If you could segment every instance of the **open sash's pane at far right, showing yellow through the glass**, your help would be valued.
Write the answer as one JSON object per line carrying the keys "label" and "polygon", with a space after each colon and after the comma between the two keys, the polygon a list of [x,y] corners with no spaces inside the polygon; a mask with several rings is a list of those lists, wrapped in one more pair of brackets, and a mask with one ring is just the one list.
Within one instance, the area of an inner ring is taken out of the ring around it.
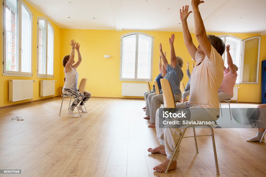
{"label": "open sash's pane at far right, showing yellow through the glass", "polygon": [[257,82],[259,38],[244,41],[243,82]]}

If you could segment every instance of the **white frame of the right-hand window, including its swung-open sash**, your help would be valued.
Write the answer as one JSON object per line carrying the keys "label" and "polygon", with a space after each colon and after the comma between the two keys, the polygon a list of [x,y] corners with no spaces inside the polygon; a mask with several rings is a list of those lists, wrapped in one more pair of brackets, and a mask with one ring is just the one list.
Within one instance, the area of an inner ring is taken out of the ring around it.
{"label": "white frame of the right-hand window, including its swung-open sash", "polygon": [[[242,83],[248,83],[248,84],[257,84],[258,83],[258,80],[259,80],[259,64],[260,64],[260,41],[261,41],[261,36],[254,36],[254,37],[250,37],[250,38],[247,38],[247,39],[240,39],[238,37],[235,37],[235,36],[231,36],[231,35],[219,35],[218,36],[219,38],[221,37],[224,37],[225,40],[223,41],[225,44],[226,44],[226,37],[233,37],[235,39],[238,39],[241,41],[241,46],[240,46],[240,65],[239,65],[239,83],[235,83],[235,85],[240,85]],[[254,38],[259,38],[259,51],[258,51],[258,61],[257,61],[257,80],[256,82],[243,82],[243,65],[244,65],[244,52],[245,52],[245,41],[247,40],[250,40],[250,39],[254,39]],[[226,51],[223,53],[223,61],[225,62],[225,54],[226,54]]]}

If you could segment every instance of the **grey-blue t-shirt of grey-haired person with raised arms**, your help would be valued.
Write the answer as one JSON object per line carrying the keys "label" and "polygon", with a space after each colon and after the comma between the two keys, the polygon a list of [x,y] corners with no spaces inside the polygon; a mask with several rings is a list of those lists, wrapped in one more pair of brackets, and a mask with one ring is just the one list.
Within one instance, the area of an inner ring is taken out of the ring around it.
{"label": "grey-blue t-shirt of grey-haired person with raised arms", "polygon": [[167,65],[167,74],[164,78],[170,82],[173,94],[181,94],[180,82],[182,81],[183,77],[184,73],[178,63],[176,64],[175,68],[169,64]]}

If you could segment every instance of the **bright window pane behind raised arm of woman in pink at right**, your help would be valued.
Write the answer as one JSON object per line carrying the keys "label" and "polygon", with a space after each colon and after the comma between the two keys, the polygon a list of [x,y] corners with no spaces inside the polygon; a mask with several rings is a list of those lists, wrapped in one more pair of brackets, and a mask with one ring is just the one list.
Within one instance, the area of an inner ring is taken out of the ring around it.
{"label": "bright window pane behind raised arm of woman in pink at right", "polygon": [[[241,43],[242,41],[234,37],[226,37],[226,45],[230,45],[230,55],[232,57],[233,63],[239,68],[236,78],[236,83],[240,83],[240,56],[241,56]],[[227,68],[227,53],[225,51],[225,67]]]}

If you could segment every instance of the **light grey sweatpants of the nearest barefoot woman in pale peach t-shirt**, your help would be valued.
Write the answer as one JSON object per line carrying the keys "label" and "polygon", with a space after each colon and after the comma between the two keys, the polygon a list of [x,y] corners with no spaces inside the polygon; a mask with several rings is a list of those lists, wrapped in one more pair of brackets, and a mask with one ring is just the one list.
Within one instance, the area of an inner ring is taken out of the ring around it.
{"label": "light grey sweatpants of the nearest barefoot woman in pale peach t-shirt", "polygon": [[[179,103],[176,104],[176,108],[184,108],[181,111],[177,111],[175,113],[181,113],[186,112],[185,109],[189,109],[189,112],[191,113],[191,118],[190,121],[194,120],[199,120],[199,121],[215,121],[217,120],[217,118],[213,117],[212,115],[219,115],[219,108],[215,109],[215,108],[205,108],[205,109],[196,109],[196,108],[203,108],[201,105],[198,104],[193,104],[190,105],[187,102],[185,103]],[[215,109],[215,110],[214,110]],[[212,113],[210,113],[209,111],[211,111]],[[182,118],[177,118],[176,120],[181,121]],[[177,142],[179,141],[184,128],[169,128],[168,126],[173,126],[173,125],[161,125],[164,128],[159,128],[160,123],[163,123],[163,121],[165,120],[165,118],[160,117],[159,116],[159,109],[157,109],[156,111],[156,122],[155,122],[155,126],[156,126],[156,133],[157,133],[157,138],[160,141],[161,145],[165,146],[165,152],[167,155],[168,159],[171,159],[172,154],[174,152],[174,149],[176,148]],[[177,149],[177,153],[174,156],[174,161],[177,159],[178,155],[179,155],[179,150],[180,148]]]}

